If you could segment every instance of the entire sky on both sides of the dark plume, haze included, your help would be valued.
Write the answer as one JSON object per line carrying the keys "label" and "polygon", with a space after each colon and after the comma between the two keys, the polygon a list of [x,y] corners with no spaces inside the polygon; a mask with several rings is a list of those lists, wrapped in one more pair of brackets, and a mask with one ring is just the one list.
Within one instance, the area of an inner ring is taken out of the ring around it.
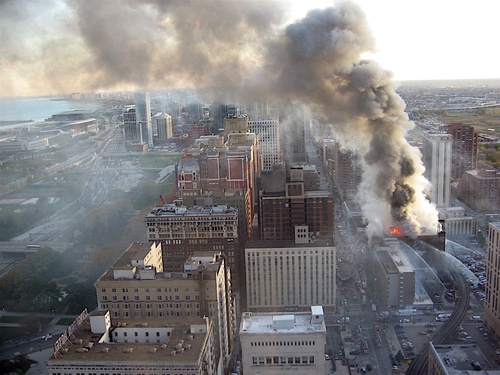
{"label": "entire sky on both sides of the dark plume, haze included", "polygon": [[[500,78],[500,2],[354,2],[376,45],[363,56],[395,79]],[[209,85],[228,72],[241,81],[279,25],[334,4],[0,0],[0,96]]]}

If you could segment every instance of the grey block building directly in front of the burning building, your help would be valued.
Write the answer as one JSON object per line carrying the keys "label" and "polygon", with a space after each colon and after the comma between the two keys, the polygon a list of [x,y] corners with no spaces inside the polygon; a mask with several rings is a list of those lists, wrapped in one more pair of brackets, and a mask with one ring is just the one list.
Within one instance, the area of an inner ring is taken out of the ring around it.
{"label": "grey block building directly in front of the burning building", "polygon": [[399,247],[386,238],[373,248],[375,293],[383,306],[411,308],[415,299],[415,269]]}

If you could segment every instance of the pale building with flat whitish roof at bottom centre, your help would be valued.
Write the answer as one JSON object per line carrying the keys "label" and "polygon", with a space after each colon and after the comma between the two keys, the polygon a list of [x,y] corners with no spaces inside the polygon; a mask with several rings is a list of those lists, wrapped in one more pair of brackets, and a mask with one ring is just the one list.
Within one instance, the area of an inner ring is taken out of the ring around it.
{"label": "pale building with flat whitish roof at bottom centre", "polygon": [[310,309],[243,314],[240,342],[245,375],[325,373],[325,317],[321,306]]}

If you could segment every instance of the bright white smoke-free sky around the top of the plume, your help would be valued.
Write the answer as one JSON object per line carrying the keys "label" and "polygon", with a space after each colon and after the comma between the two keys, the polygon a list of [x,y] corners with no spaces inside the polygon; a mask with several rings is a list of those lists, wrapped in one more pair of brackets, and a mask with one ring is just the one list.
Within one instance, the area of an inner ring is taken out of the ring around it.
{"label": "bright white smoke-free sky around the top of the plume", "polygon": [[[370,58],[395,79],[500,78],[500,2],[355,0],[377,43]],[[326,0],[294,1],[297,16]]]}

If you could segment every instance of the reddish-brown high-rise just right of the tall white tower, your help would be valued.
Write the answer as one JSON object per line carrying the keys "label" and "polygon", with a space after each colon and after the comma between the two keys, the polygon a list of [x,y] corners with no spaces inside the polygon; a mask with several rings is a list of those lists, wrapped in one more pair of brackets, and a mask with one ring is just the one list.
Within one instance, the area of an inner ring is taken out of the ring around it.
{"label": "reddish-brown high-rise just right of the tall white tower", "polygon": [[453,137],[451,148],[451,178],[462,178],[465,171],[476,169],[478,133],[473,126],[451,123],[446,127]]}

